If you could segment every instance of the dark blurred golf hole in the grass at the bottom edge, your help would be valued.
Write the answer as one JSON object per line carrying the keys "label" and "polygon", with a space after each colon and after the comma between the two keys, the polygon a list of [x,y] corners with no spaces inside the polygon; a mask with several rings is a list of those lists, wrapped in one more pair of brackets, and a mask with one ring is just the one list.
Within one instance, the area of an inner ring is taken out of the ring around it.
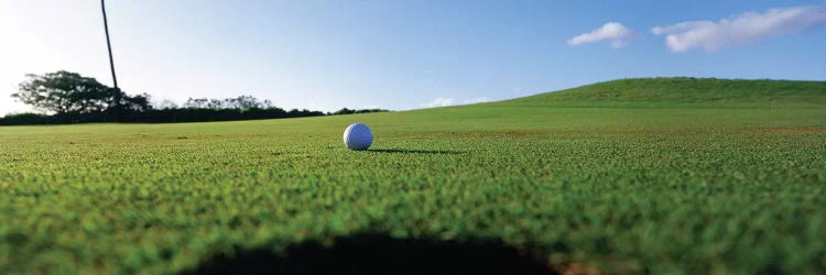
{"label": "dark blurred golf hole in the grass at the bottom edge", "polygon": [[293,245],[284,255],[240,251],[208,258],[189,274],[557,274],[539,256],[498,241],[434,241],[388,235]]}

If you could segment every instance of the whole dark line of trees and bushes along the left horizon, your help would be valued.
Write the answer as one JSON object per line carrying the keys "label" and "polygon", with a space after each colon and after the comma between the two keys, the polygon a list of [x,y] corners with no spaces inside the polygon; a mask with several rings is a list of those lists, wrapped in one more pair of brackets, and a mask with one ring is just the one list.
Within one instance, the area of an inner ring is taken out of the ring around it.
{"label": "whole dark line of trees and bushes along the left horizon", "polygon": [[[306,109],[284,110],[270,100],[252,96],[224,99],[189,98],[182,106],[163,101],[155,107],[148,94],[128,95],[100,84],[95,78],[59,70],[44,75],[26,75],[18,92],[11,95],[41,113],[18,113],[0,118],[0,124],[67,124],[86,122],[199,122],[256,119],[281,119],[382,112],[382,109],[335,112]],[[119,101],[116,101],[119,100]]]}

